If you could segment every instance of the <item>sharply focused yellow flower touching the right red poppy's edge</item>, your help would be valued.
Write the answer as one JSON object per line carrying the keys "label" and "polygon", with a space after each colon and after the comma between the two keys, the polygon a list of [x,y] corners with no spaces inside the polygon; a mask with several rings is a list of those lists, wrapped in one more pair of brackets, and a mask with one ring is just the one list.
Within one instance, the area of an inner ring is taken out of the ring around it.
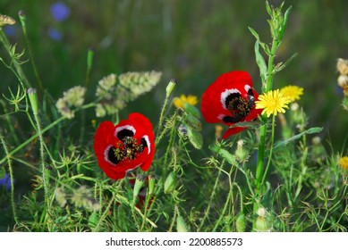
{"label": "sharply focused yellow flower touching the right red poppy's edge", "polygon": [[285,108],[289,108],[290,98],[283,96],[279,89],[270,90],[259,96],[259,100],[255,102],[257,109],[263,109],[261,114],[267,113],[267,117],[271,114],[276,115],[278,112],[285,112]]}

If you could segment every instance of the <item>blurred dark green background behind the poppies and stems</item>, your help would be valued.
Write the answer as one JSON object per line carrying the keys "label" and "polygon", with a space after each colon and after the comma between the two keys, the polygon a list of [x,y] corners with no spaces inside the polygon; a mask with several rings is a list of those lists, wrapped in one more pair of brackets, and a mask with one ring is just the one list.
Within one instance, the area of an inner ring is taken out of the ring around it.
{"label": "blurred dark green background behind the poppies and stems", "polygon": [[[269,3],[278,6],[282,1]],[[348,1],[285,1],[284,9],[289,5],[293,10],[276,63],[294,53],[299,55],[276,75],[274,87],[304,87],[300,104],[309,126],[324,127],[320,136],[341,151],[348,112],[341,106],[343,91],[336,84],[335,63],[338,57],[348,58]],[[27,15],[30,44],[43,85],[55,99],[67,88],[83,85],[90,47],[95,49],[95,58],[89,100],[98,80],[109,73],[164,72],[155,90],[129,105],[121,118],[128,112],[143,112],[157,121],[169,79],[177,81],[174,96],[201,96],[221,73],[244,70],[250,72],[260,91],[255,38],[248,27],[257,30],[264,42],[271,41],[265,1],[0,0],[0,12],[17,21],[4,31],[22,49],[20,10]],[[7,58],[3,47],[0,56]],[[36,86],[30,63],[23,67]],[[7,94],[8,87],[15,92],[18,82],[4,64],[0,76],[0,92]]]}

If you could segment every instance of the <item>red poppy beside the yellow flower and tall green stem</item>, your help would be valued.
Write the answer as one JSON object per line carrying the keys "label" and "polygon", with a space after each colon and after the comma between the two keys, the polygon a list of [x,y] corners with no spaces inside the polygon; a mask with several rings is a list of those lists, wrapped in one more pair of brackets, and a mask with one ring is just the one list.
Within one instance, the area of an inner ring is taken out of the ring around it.
{"label": "red poppy beside the yellow flower and tall green stem", "polygon": [[[224,73],[203,93],[201,112],[208,123],[222,122],[231,126],[241,121],[253,121],[262,112],[255,109],[255,100],[258,97],[248,72]],[[223,139],[244,129],[246,127],[227,129]]]}

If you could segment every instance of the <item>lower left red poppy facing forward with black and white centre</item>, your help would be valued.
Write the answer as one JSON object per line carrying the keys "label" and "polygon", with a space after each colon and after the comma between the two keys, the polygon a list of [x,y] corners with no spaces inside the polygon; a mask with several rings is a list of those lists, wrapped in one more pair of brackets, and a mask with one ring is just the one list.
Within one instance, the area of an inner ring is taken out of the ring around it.
{"label": "lower left red poppy facing forward with black and white centre", "polygon": [[155,154],[152,124],[144,115],[133,112],[116,126],[102,122],[94,137],[99,167],[111,179],[122,179],[138,167],[148,171]]}

